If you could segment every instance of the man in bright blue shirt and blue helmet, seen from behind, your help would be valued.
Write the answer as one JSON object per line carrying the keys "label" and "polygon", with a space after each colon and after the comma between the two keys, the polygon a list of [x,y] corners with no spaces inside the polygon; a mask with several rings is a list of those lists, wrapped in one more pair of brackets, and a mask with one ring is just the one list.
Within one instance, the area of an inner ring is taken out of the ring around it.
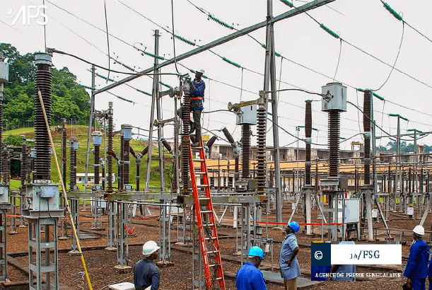
{"label": "man in bright blue shirt and blue helmet, seen from behind", "polygon": [[261,261],[264,261],[264,252],[256,245],[247,253],[245,265],[235,274],[237,290],[267,290],[262,272],[259,271]]}

